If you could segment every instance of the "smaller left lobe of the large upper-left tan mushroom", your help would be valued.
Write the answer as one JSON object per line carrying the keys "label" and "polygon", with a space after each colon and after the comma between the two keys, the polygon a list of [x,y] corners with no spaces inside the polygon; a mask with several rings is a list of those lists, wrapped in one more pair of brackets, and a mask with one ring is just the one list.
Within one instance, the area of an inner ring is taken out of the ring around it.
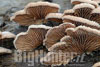
{"label": "smaller left lobe of the large upper-left tan mushroom", "polygon": [[29,14],[26,14],[25,10],[17,11],[14,16],[11,17],[11,20],[19,23],[20,25],[29,26],[32,24],[39,24],[36,22],[33,17]]}

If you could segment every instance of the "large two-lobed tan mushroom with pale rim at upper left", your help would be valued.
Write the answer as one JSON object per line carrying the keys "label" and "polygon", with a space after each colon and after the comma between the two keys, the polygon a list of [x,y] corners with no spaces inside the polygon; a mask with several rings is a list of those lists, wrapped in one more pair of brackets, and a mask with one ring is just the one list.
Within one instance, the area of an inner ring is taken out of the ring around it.
{"label": "large two-lobed tan mushroom with pale rim at upper left", "polygon": [[49,13],[56,13],[60,9],[60,6],[55,3],[49,2],[33,2],[29,3],[24,10],[18,11],[11,18],[15,22],[21,25],[42,24],[45,22],[45,17]]}

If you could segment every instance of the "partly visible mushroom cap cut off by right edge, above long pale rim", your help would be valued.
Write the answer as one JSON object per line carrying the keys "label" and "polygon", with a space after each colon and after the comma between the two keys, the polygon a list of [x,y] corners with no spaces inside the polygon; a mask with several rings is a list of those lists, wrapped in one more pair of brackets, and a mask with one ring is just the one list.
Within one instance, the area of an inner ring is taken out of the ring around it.
{"label": "partly visible mushroom cap cut off by right edge, above long pale rim", "polygon": [[100,24],[100,7],[92,11],[90,20],[96,21]]}

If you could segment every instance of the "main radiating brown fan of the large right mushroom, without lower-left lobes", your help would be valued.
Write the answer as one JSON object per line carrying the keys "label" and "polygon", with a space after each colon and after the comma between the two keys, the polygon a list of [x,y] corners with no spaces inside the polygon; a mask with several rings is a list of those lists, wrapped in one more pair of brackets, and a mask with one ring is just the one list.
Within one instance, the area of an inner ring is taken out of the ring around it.
{"label": "main radiating brown fan of the large right mushroom, without lower-left lobes", "polygon": [[[66,29],[66,33],[69,37],[64,37],[61,42],[66,42],[68,52],[82,54],[100,48],[100,30],[79,26]],[[55,48],[53,50],[55,51]]]}

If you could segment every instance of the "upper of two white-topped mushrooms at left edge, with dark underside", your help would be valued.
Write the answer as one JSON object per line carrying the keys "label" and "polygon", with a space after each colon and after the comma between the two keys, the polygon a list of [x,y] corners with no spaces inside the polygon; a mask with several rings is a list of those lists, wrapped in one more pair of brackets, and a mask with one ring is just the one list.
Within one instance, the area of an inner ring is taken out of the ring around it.
{"label": "upper of two white-topped mushrooms at left edge, with dark underside", "polygon": [[0,46],[5,48],[12,48],[13,47],[13,40],[16,37],[15,34],[4,31],[0,32]]}

